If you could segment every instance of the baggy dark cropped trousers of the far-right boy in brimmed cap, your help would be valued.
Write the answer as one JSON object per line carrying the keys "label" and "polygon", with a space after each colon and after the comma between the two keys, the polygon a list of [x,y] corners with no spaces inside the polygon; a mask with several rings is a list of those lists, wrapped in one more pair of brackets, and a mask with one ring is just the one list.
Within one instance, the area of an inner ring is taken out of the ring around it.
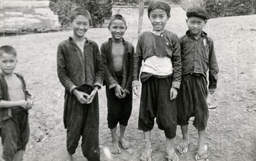
{"label": "baggy dark cropped trousers of the far-right boy in brimmed cap", "polygon": [[182,76],[180,90],[177,95],[178,125],[188,125],[191,117],[198,130],[207,126],[209,111],[207,105],[207,78],[202,75],[187,74]]}

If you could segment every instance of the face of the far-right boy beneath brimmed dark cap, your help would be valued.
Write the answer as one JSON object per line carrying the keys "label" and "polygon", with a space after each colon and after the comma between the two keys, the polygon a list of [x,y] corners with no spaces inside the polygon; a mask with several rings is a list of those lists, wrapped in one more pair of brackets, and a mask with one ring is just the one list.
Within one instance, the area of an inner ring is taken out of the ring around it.
{"label": "face of the far-right boy beneath brimmed dark cap", "polygon": [[189,17],[187,20],[188,29],[190,34],[193,36],[198,36],[201,34],[206,20],[199,17]]}

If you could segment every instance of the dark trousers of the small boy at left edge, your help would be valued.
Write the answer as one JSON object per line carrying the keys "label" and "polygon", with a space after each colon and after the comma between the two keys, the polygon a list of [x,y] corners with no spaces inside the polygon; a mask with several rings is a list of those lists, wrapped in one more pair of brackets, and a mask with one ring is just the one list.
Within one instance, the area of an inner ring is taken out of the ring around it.
{"label": "dark trousers of the small boy at left edge", "polygon": [[12,118],[2,122],[1,137],[3,159],[13,160],[17,151],[25,150],[29,141],[30,127],[27,111],[12,114]]}

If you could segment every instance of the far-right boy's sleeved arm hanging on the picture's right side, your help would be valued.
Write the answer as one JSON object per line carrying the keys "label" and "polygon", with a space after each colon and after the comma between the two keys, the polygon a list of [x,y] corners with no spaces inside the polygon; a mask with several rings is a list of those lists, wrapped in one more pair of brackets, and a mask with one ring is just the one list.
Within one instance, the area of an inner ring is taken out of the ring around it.
{"label": "far-right boy's sleeved arm hanging on the picture's right side", "polygon": [[219,67],[214,50],[214,41],[211,40],[209,45],[209,91],[215,91],[217,87],[218,72]]}

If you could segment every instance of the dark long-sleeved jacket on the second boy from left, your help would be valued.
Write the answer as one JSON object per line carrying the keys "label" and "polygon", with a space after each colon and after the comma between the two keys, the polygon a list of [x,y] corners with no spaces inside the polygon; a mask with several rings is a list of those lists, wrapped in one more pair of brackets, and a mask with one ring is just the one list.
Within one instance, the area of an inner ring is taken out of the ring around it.
{"label": "dark long-sleeved jacket on the second boy from left", "polygon": [[72,37],[62,41],[58,46],[57,70],[60,82],[67,91],[71,92],[74,86],[83,84],[98,85],[100,88],[103,69],[98,45],[86,38],[82,53]]}

